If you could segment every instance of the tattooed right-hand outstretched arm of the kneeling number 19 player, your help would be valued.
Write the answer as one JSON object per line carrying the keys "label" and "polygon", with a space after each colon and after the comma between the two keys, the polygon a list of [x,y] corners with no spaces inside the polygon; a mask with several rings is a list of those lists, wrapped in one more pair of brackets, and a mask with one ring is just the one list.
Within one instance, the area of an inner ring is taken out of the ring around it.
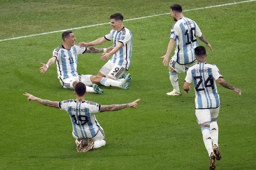
{"label": "tattooed right-hand outstretched arm of the kneeling number 19 player", "polygon": [[100,112],[105,112],[105,111],[116,111],[116,110],[121,110],[125,109],[126,107],[132,107],[132,108],[137,108],[137,103],[140,101],[140,99],[135,100],[134,102],[131,102],[129,104],[113,104],[113,105],[102,105],[100,107]]}

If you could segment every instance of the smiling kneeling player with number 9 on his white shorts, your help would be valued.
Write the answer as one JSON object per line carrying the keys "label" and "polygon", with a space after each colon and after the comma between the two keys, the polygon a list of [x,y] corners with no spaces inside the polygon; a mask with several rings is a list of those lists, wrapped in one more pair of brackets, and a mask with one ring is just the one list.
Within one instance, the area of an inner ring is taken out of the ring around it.
{"label": "smiling kneeling player with number 9 on his white shorts", "polygon": [[[106,41],[113,40],[114,48],[109,53],[103,53],[100,59],[106,60],[112,57],[100,69],[97,75],[121,81],[122,78],[126,76],[126,71],[129,70],[131,64],[132,34],[131,31],[123,25],[123,15],[120,13],[110,16],[110,25],[113,29],[109,34],[92,42],[81,42],[78,46],[96,46]],[[130,74],[128,74],[128,76],[128,81],[130,82]]]}

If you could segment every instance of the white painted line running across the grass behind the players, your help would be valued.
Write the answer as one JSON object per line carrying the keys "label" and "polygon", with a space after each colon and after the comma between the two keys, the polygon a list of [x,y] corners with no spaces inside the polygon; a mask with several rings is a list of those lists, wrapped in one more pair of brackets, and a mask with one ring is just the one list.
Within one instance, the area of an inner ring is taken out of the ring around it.
{"label": "white painted line running across the grass behind the players", "polygon": [[[238,3],[246,3],[246,2],[253,2],[253,1],[256,1],[256,0],[247,0],[247,1],[234,2],[234,3],[225,3],[225,4],[221,4],[221,5],[213,5],[213,6],[209,6],[209,7],[194,8],[194,9],[183,10],[183,12],[192,11],[192,10],[199,10],[199,9],[206,9],[206,8],[222,7],[222,6],[226,6],[226,5],[235,5],[235,4],[238,4]],[[126,19],[124,21],[136,20],[136,19],[144,19],[144,18],[156,17],[156,16],[160,16],[160,15],[167,15],[167,14],[170,14],[170,13],[157,14],[157,15],[149,15],[149,16],[145,16],[145,17]],[[81,28],[101,26],[101,25],[106,25],[106,24],[110,24],[110,22],[105,22],[105,23],[101,23],[101,24],[94,24],[94,25],[90,25],[90,26],[83,26],[83,27],[63,29],[63,30],[59,30],[59,31],[43,32],[43,33],[40,33],[40,34],[31,34],[31,35],[28,35],[28,36],[20,36],[20,37],[8,38],[8,39],[1,39],[0,42],[1,41],[12,40],[12,39],[20,39],[20,38],[25,38],[25,37],[40,36],[40,35],[51,34],[51,33],[55,33],[55,32],[64,32],[64,31],[67,31],[67,30],[75,30],[75,29],[81,29]]]}

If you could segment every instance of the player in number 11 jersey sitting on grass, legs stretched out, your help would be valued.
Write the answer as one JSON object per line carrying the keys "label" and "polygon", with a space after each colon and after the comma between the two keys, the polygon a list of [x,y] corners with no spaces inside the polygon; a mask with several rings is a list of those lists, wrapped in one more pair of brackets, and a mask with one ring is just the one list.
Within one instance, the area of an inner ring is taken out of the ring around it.
{"label": "player in number 11 jersey sitting on grass, legs stretched out", "polygon": [[[112,46],[105,49],[98,48],[83,48],[76,46],[74,42],[76,37],[72,31],[65,31],[62,33],[63,44],[53,51],[53,56],[47,64],[40,67],[40,72],[45,73],[49,66],[56,63],[57,76],[60,80],[62,87],[74,89],[78,82],[83,82],[87,86],[87,92],[102,94],[103,91],[95,83],[101,83],[104,86],[113,86],[127,89],[129,87],[129,76],[126,76],[122,81],[115,81],[109,78],[93,75],[81,75],[77,72],[77,56],[84,53],[101,53],[111,51]],[[89,87],[92,86],[92,87]]]}

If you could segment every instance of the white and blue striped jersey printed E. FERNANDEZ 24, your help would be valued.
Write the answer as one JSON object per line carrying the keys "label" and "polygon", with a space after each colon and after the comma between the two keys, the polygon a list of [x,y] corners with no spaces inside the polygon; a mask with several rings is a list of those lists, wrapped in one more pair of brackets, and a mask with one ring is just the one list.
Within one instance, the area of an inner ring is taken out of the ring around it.
{"label": "white and blue striped jersey printed E. FERNANDEZ 24", "polygon": [[185,81],[194,83],[195,109],[210,109],[220,106],[220,97],[215,80],[222,77],[216,65],[198,63],[189,68]]}

